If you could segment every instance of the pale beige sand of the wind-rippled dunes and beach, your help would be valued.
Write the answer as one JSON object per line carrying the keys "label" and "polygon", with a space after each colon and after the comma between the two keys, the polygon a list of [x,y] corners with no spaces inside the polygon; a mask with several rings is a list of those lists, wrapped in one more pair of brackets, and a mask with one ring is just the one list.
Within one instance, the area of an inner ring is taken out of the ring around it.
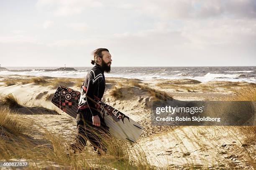
{"label": "pale beige sand of the wind-rippled dunes and beach", "polygon": [[[1,76],[0,96],[13,94],[20,104],[25,106],[16,109],[20,116],[34,118],[43,127],[63,136],[68,143],[72,142],[76,121],[50,101],[56,90],[56,85],[42,85],[29,81],[26,83],[26,80],[30,78],[20,75]],[[17,81],[13,83],[14,85],[8,86],[6,85],[8,80]],[[56,79],[47,77],[46,80],[54,83]],[[173,84],[169,80],[149,82],[112,77],[108,78],[102,100],[124,112],[144,127],[136,145],[143,148],[152,165],[174,169],[191,167],[197,169],[253,169],[249,162],[254,161],[255,164],[255,143],[246,143],[243,135],[238,135],[234,127],[152,126],[151,104],[155,97],[147,90],[133,86],[131,83],[133,81],[164,91],[174,99],[184,101],[220,100],[232,96],[236,90],[252,83],[237,82],[234,84],[224,81],[192,83],[188,80],[180,80],[182,83]],[[70,87],[79,90],[78,86]],[[116,98],[110,95],[110,91],[114,87],[120,89],[122,97]],[[36,135],[34,137],[40,138]]]}

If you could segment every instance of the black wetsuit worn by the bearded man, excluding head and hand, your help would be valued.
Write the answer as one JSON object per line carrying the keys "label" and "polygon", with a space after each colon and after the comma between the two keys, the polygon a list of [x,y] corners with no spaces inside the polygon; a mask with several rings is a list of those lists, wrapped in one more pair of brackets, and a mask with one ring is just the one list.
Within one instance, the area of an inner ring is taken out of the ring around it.
{"label": "black wetsuit worn by the bearded man, excluding head and hand", "polygon": [[[101,138],[107,137],[109,132],[95,107],[97,101],[94,100],[94,96],[101,99],[105,91],[104,70],[100,65],[96,64],[92,67],[85,77],[83,86],[86,87],[86,91],[81,87],[79,108],[77,110],[77,134],[71,147],[76,152],[80,152],[84,149],[87,140],[89,140],[95,146],[95,149],[105,150],[105,145],[102,143]],[[92,124],[92,116],[95,115],[100,117],[100,126]]]}

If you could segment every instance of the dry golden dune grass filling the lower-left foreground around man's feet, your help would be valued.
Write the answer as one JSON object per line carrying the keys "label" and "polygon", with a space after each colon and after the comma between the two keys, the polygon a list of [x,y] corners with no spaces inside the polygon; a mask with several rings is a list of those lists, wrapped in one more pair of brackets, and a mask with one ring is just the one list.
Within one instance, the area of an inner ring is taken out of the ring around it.
{"label": "dry golden dune grass filling the lower-left foreground around man's feet", "polygon": [[[36,120],[18,116],[8,107],[0,109],[0,160],[25,160],[28,169],[113,169],[154,170],[139,147],[103,136],[108,151],[98,156],[86,147],[81,154],[67,156],[70,144],[61,134],[54,134]],[[33,135],[40,135],[33,138]],[[55,167],[54,167],[54,166]]]}

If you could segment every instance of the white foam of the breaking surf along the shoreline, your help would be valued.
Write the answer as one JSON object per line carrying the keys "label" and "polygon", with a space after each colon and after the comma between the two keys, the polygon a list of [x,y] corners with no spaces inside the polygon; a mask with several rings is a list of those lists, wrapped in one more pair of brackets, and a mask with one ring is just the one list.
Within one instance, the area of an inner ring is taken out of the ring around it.
{"label": "white foam of the breaking surf along the shoreline", "polygon": [[[33,76],[49,76],[49,77],[72,77],[72,78],[84,78],[89,70],[79,70],[79,71],[27,71],[27,72],[10,72],[10,71],[0,71],[0,75],[33,75]],[[223,80],[223,81],[246,81],[255,82],[255,77],[245,77],[243,74],[214,74],[208,72],[204,76],[194,77],[190,74],[179,73],[176,75],[161,73],[148,74],[146,72],[136,72],[136,73],[118,73],[110,72],[106,73],[105,77],[123,77],[123,78],[137,78],[140,80],[154,80],[154,79],[177,79],[177,78],[189,78],[194,80],[199,80],[201,82],[207,82],[212,80]]]}

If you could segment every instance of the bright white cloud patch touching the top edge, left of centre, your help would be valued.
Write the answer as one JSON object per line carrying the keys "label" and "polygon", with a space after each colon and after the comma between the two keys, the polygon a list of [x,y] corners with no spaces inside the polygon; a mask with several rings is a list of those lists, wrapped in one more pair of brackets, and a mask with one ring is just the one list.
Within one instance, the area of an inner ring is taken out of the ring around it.
{"label": "bright white cloud patch touching the top edge, left of centre", "polygon": [[42,11],[53,12],[56,16],[69,16],[82,13],[88,7],[102,7],[94,0],[38,0],[36,7]]}

